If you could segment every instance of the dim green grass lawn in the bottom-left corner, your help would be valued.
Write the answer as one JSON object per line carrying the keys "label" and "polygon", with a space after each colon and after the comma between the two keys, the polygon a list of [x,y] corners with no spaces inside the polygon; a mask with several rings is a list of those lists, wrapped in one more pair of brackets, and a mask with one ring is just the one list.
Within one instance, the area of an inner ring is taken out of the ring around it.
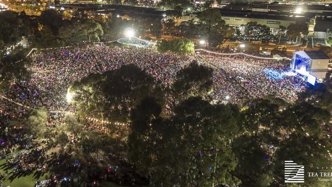
{"label": "dim green grass lawn in the bottom-left corner", "polygon": [[[14,153],[19,152],[21,150],[16,150]],[[6,159],[0,160],[0,172],[5,175],[4,165],[6,163]],[[30,175],[16,177],[13,180],[9,179],[10,175],[5,177],[5,181],[3,184],[5,186],[10,187],[33,187],[37,180],[45,180],[49,179],[49,173],[43,173],[42,176],[37,177],[35,176],[35,172],[32,172]]]}

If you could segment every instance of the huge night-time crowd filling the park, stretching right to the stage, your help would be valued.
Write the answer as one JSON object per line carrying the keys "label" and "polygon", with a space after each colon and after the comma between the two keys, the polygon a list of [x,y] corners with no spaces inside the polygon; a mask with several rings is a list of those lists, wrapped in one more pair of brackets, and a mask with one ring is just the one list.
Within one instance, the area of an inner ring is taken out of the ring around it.
{"label": "huge night-time crowd filling the park, stretching right to the stage", "polygon": [[[225,98],[243,105],[254,98],[272,95],[287,102],[294,102],[306,83],[292,75],[284,62],[256,59],[246,56],[216,56],[205,53],[191,56],[160,54],[149,48],[96,47],[58,49],[32,55],[34,65],[30,82],[9,85],[3,95],[30,107],[44,107],[49,111],[73,110],[66,102],[67,88],[74,81],[90,73],[102,73],[136,64],[144,68],[165,86],[172,85],[177,72],[193,60],[214,69],[214,85],[211,96],[214,100]],[[226,97],[227,96],[227,97]],[[22,116],[24,108],[6,102],[4,111]],[[14,108],[14,109],[13,109]],[[51,112],[50,118],[60,123],[63,114]]]}

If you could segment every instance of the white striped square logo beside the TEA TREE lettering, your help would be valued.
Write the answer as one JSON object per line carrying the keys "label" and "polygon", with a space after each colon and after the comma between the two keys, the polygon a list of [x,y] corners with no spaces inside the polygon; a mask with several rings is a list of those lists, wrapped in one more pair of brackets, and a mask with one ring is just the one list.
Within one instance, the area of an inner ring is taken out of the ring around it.
{"label": "white striped square logo beside the TEA TREE lettering", "polygon": [[304,166],[299,166],[292,160],[285,160],[284,182],[304,182]]}

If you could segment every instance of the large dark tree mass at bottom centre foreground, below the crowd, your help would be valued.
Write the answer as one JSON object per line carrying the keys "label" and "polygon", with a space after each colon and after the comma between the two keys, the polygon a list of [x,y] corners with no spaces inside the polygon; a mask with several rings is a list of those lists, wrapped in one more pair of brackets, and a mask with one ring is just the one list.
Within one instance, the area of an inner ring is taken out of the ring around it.
{"label": "large dark tree mass at bottom centre foreground, below the crowd", "polygon": [[[236,185],[229,139],[238,133],[239,109],[189,98],[163,119],[153,98],[133,110],[130,159],[151,186]],[[166,151],[167,150],[167,151]]]}

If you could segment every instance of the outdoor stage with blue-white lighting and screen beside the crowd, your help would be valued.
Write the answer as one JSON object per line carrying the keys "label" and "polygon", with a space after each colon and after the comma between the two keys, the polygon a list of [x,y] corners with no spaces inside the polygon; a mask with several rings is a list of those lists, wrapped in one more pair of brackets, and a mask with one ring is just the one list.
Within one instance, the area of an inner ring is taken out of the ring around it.
{"label": "outdoor stage with blue-white lighting and screen beside the crowd", "polygon": [[294,72],[307,78],[307,82],[315,85],[321,82],[327,73],[330,58],[320,51],[294,52],[291,68]]}

